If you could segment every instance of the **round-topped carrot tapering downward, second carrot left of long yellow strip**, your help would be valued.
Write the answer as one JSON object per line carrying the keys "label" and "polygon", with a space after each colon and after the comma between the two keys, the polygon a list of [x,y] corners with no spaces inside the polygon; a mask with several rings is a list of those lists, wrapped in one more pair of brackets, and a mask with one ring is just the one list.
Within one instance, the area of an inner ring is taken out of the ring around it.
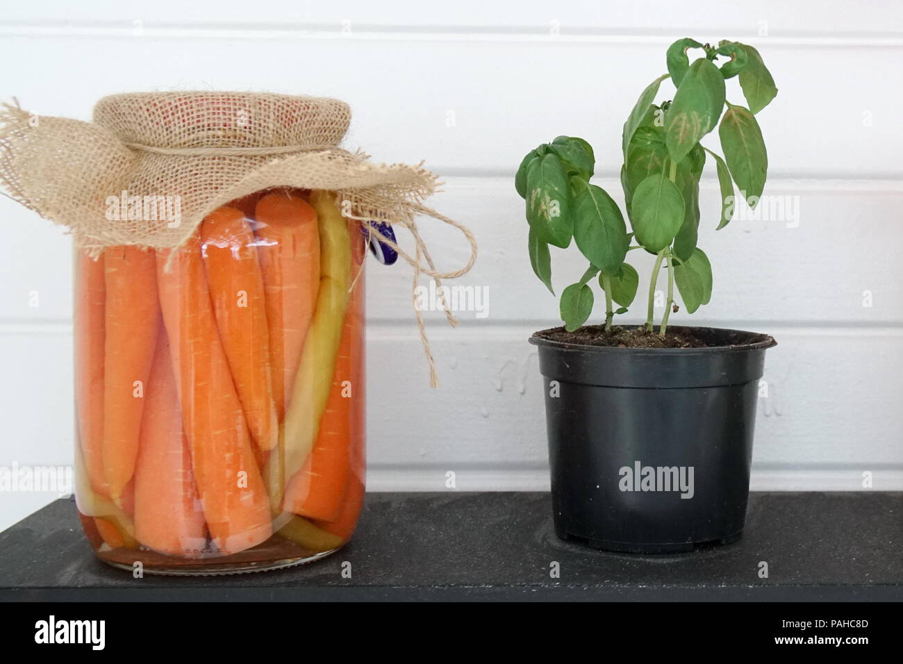
{"label": "round-topped carrot tapering downward, second carrot left of long yellow strip", "polygon": [[271,450],[279,423],[270,388],[264,280],[254,232],[241,210],[219,208],[201,224],[204,266],[219,339],[258,450]]}

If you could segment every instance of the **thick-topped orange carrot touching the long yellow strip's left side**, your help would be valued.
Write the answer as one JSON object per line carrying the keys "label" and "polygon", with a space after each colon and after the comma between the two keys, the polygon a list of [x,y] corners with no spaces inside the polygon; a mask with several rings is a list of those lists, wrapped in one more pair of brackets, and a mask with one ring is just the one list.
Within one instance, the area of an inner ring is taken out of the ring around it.
{"label": "thick-topped orange carrot touching the long yellow strip's left side", "polygon": [[273,397],[282,421],[320,291],[320,235],[316,211],[291,192],[263,196],[257,201],[255,220],[266,289]]}

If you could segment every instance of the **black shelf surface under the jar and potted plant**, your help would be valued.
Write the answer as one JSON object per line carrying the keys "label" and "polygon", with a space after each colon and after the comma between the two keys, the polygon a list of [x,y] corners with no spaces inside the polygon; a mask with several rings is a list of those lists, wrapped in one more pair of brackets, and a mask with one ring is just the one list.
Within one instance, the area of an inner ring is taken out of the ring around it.
{"label": "black shelf surface under the jar and potted plant", "polygon": [[739,541],[667,556],[565,543],[536,492],[369,493],[348,546],[246,575],[134,579],[94,557],[71,500],[0,533],[7,601],[865,601],[903,600],[901,583],[903,492],[889,491],[753,492]]}

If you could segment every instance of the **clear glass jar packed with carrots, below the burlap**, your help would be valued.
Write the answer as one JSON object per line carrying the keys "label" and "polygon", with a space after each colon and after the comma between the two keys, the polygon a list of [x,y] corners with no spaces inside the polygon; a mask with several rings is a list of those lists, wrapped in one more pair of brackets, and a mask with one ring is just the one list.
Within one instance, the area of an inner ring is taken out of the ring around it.
{"label": "clear glass jar packed with carrots, below the burlap", "polygon": [[365,240],[330,192],[214,210],[177,249],[76,252],[76,500],[145,573],[291,566],[364,494]]}

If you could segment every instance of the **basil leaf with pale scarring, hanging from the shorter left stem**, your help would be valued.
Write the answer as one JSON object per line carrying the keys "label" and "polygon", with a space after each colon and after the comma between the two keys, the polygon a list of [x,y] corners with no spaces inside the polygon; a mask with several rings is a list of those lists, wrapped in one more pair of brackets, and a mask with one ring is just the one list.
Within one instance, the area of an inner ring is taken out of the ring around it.
{"label": "basil leaf with pale scarring, hanging from the shorter left stem", "polygon": [[573,236],[572,197],[558,157],[545,154],[526,167],[526,220],[544,242],[567,248]]}

